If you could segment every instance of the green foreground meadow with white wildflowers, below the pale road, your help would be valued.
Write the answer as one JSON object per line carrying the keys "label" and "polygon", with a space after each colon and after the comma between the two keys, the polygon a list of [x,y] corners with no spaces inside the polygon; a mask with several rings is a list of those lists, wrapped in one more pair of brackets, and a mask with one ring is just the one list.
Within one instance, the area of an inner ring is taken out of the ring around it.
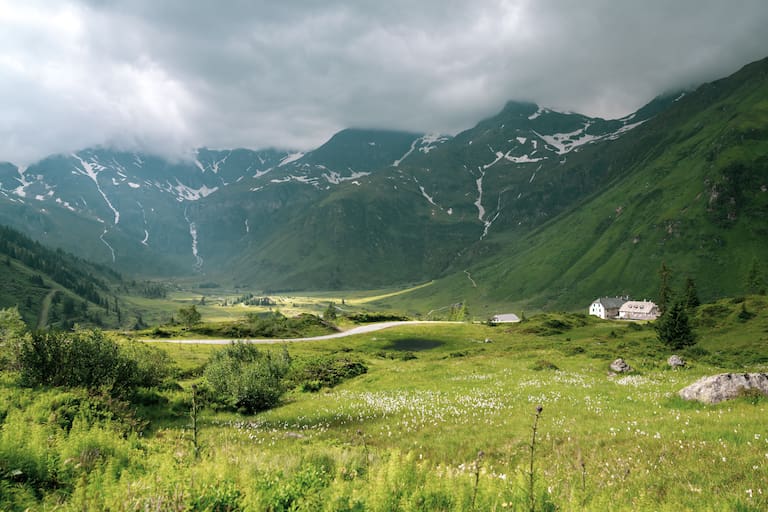
{"label": "green foreground meadow with white wildflowers, below the pale road", "polygon": [[[115,340],[142,368],[167,354],[169,377],[112,392],[3,373],[0,509],[765,510],[768,400],[676,392],[766,371],[766,306],[698,307],[677,371],[651,324],[575,314],[249,349],[285,388],[253,414],[213,392],[226,346]],[[636,371],[609,375],[616,357]]]}

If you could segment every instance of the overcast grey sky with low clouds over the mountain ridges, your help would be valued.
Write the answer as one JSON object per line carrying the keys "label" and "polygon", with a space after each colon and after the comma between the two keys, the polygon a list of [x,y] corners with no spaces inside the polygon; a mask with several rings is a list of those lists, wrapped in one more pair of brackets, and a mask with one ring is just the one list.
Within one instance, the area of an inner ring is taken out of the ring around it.
{"label": "overcast grey sky with low clouds over the mountain ridges", "polygon": [[766,0],[0,0],[0,161],[607,118],[768,56]]}

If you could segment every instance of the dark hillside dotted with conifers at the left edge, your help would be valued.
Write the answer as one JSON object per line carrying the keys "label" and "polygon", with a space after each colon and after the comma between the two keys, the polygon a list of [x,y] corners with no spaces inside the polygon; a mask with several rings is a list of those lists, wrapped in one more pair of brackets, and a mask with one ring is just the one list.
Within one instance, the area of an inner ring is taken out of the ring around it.
{"label": "dark hillside dotted with conifers at the left edge", "polygon": [[0,309],[17,307],[28,325],[114,326],[122,313],[112,289],[121,277],[0,226]]}

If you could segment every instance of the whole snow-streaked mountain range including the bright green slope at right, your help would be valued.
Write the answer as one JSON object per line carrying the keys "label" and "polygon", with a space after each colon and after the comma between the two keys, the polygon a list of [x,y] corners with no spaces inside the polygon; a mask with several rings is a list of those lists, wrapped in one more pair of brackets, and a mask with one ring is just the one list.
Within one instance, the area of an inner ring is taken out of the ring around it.
{"label": "whole snow-streaked mountain range including the bright green slope at right", "polygon": [[662,262],[705,300],[737,295],[766,219],[768,59],[615,120],[509,102],[455,137],[0,164],[0,224],[98,268],[264,291],[434,280],[414,304],[651,297]]}

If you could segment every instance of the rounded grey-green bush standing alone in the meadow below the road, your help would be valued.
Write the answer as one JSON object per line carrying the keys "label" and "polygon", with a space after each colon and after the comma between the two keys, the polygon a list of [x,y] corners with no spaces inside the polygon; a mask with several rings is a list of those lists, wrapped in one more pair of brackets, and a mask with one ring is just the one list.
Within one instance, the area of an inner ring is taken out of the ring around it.
{"label": "rounded grey-green bush standing alone in the meadow below the road", "polygon": [[285,348],[274,355],[255,345],[233,342],[213,355],[204,375],[215,401],[252,414],[277,405],[290,364]]}

